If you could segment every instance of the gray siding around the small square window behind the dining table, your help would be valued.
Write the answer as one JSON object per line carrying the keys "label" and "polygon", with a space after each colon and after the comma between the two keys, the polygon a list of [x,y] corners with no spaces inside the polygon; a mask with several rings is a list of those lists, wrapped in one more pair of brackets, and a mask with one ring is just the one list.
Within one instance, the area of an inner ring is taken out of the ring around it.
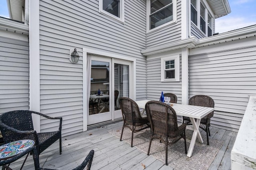
{"label": "gray siding around the small square window behind the dining table", "polygon": [[[161,92],[176,94],[181,104],[182,98],[182,79],[181,79],[181,56],[180,56],[180,81],[179,82],[161,82],[161,58],[147,60],[147,99],[157,100],[161,96]],[[178,120],[181,117],[178,116]]]}

